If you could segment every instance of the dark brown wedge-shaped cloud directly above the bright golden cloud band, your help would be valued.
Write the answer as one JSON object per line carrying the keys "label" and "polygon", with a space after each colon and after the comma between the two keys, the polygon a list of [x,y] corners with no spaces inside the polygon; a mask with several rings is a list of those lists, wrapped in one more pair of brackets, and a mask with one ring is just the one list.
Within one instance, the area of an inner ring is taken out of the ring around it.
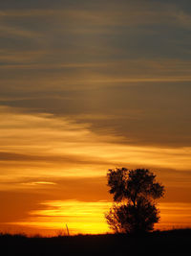
{"label": "dark brown wedge-shaped cloud directly above the bright golden cloud band", "polygon": [[149,82],[91,91],[33,92],[26,99],[25,93],[7,93],[12,99],[1,103],[68,116],[89,123],[94,131],[113,130],[128,143],[183,147],[191,145],[190,93],[189,82]]}

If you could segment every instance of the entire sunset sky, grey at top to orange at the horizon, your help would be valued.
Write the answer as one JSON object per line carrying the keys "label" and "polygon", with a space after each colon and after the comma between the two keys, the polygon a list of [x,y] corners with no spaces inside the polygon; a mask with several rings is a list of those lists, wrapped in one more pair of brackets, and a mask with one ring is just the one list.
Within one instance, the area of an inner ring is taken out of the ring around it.
{"label": "entire sunset sky, grey at top to orange at the horizon", "polygon": [[109,232],[111,168],[191,226],[191,2],[0,1],[0,231]]}

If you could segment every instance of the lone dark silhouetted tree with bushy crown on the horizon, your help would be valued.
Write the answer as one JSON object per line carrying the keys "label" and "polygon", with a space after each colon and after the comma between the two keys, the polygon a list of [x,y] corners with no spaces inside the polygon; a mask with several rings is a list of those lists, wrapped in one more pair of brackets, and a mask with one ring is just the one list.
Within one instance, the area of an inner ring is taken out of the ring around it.
{"label": "lone dark silhouetted tree with bushy crown on the horizon", "polygon": [[126,168],[109,170],[110,193],[116,202],[106,214],[115,232],[140,233],[153,230],[159,221],[156,199],[163,197],[164,187],[156,175],[146,169],[128,171]]}

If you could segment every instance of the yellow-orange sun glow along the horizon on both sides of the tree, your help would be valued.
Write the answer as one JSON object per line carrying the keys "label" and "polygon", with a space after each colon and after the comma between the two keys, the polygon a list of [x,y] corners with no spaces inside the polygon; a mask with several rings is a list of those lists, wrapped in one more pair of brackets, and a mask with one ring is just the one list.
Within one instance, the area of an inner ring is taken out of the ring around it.
{"label": "yellow-orange sun glow along the horizon on both sides of the tree", "polygon": [[[105,220],[105,213],[112,206],[109,201],[47,201],[42,210],[33,210],[25,221],[11,222],[12,225],[44,230],[44,234],[70,235],[100,234],[112,232]],[[160,221],[156,229],[186,228],[191,221],[190,203],[159,203]],[[183,219],[181,219],[183,218]]]}

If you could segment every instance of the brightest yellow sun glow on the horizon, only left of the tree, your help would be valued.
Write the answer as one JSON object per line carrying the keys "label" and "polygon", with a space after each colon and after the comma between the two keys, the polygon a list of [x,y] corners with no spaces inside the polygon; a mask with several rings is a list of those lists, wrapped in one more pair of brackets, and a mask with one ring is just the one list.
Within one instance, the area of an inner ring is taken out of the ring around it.
{"label": "brightest yellow sun glow on the horizon, only left of the tree", "polygon": [[30,218],[26,221],[12,224],[24,225],[42,229],[65,231],[66,224],[70,234],[88,233],[98,234],[108,232],[108,226],[104,219],[111,202],[107,201],[49,201],[41,203],[44,210],[30,212]]}

